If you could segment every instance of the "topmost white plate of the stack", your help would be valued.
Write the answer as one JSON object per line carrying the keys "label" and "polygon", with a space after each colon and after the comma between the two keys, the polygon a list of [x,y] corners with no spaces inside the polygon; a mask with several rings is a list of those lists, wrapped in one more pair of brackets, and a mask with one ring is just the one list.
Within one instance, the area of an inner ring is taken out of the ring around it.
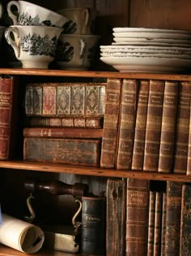
{"label": "topmost white plate of the stack", "polygon": [[188,30],[181,30],[181,29],[163,29],[163,28],[112,28],[113,32],[149,32],[149,33],[191,33]]}

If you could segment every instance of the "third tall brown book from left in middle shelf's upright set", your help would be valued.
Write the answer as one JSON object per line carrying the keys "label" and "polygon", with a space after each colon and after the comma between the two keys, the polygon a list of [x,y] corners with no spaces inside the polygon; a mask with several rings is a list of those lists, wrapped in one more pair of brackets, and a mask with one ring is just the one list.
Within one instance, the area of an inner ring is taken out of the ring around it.
{"label": "third tall brown book from left in middle shelf's upright set", "polygon": [[134,132],[132,170],[143,170],[148,96],[149,80],[140,80],[138,93],[138,109]]}

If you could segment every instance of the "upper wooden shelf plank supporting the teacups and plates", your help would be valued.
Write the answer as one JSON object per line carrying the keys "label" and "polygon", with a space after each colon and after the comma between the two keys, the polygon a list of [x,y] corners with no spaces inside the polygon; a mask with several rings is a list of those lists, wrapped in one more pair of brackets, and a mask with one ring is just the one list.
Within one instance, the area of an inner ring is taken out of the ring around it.
{"label": "upper wooden shelf plank supporting the teacups and plates", "polygon": [[0,68],[0,74],[19,76],[75,76],[75,77],[100,77],[100,78],[134,78],[134,79],[159,79],[159,80],[191,80],[191,74],[155,74],[135,72],[102,72],[102,71],[72,71],[51,69],[28,68]]}

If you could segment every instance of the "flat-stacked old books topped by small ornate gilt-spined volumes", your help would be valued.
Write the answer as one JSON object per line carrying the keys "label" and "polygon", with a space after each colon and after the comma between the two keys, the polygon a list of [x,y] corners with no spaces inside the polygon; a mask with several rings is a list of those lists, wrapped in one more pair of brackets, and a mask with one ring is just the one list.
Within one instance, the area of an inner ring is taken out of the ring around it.
{"label": "flat-stacked old books topped by small ornate gilt-spined volumes", "polygon": [[106,83],[28,84],[23,159],[100,167]]}

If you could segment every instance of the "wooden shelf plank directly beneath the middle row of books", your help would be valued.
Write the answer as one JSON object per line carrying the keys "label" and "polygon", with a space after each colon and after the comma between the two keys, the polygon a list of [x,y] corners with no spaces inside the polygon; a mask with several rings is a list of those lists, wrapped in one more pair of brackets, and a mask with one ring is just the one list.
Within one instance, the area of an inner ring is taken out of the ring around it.
{"label": "wooden shelf plank directly beneath the middle row of books", "polygon": [[36,163],[26,161],[1,161],[0,168],[18,169],[26,171],[63,172],[89,176],[123,177],[143,180],[172,180],[179,182],[191,182],[191,176],[180,174],[164,174],[151,171],[127,171],[106,169],[100,167],[79,167],[54,163]]}

